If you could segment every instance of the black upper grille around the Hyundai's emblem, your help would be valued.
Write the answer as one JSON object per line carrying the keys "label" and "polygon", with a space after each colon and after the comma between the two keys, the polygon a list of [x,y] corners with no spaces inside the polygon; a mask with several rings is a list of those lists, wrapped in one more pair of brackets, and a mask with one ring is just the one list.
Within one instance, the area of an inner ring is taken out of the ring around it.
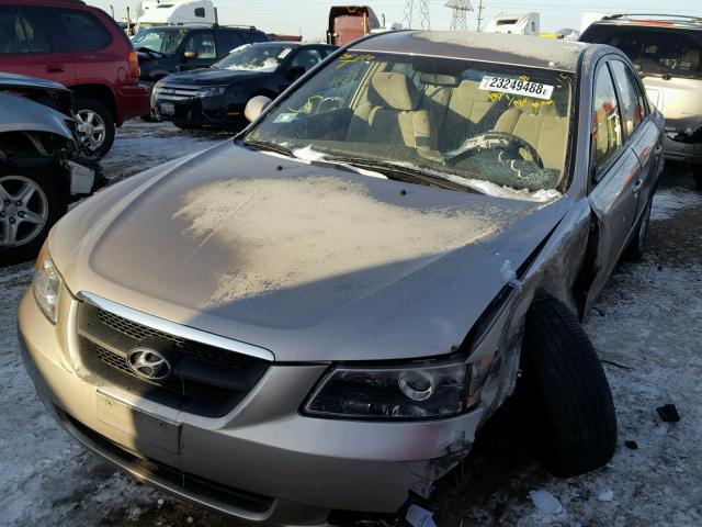
{"label": "black upper grille around the Hyundai's emblem", "polygon": [[[78,310],[78,335],[90,375],[205,416],[230,412],[268,369],[262,359],[163,333],[86,302]],[[172,362],[168,379],[146,380],[127,365],[128,352],[145,340],[168,349]]]}

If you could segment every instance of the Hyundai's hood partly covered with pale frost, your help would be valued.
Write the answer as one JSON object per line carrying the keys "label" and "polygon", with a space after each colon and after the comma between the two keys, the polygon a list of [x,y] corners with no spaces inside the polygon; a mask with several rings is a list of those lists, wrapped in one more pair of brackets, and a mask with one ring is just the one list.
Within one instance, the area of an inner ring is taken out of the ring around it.
{"label": "Hyundai's hood partly covered with pale frost", "polygon": [[54,229],[68,288],[280,361],[458,346],[565,215],[233,145],[87,200]]}

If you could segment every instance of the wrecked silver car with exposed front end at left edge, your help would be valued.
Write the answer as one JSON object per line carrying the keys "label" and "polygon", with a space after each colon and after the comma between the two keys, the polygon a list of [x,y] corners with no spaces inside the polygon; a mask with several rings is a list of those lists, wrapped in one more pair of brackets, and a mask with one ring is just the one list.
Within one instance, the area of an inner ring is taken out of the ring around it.
{"label": "wrecked silver car with exposed front end at left edge", "polygon": [[76,135],[73,96],[0,72],[0,265],[36,257],[68,204],[102,183]]}

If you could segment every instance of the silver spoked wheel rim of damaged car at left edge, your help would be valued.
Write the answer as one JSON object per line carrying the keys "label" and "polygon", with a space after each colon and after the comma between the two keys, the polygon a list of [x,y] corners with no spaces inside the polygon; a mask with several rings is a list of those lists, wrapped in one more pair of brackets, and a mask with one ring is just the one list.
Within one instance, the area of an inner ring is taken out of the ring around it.
{"label": "silver spoked wheel rim of damaged car at left edge", "polygon": [[44,190],[24,176],[0,177],[0,247],[32,242],[48,220]]}

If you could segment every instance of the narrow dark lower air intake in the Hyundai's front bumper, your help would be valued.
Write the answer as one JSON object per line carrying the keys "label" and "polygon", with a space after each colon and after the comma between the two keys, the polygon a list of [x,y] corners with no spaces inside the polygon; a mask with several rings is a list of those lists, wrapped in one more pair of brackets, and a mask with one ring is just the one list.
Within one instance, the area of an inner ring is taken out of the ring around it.
{"label": "narrow dark lower air intake in the Hyundai's front bumper", "polygon": [[168,489],[182,489],[204,503],[214,501],[254,514],[264,514],[273,506],[272,497],[223,485],[151,459],[139,458],[61,410],[56,408],[56,411],[69,431],[81,442],[103,456],[116,458],[124,469],[148,474]]}

